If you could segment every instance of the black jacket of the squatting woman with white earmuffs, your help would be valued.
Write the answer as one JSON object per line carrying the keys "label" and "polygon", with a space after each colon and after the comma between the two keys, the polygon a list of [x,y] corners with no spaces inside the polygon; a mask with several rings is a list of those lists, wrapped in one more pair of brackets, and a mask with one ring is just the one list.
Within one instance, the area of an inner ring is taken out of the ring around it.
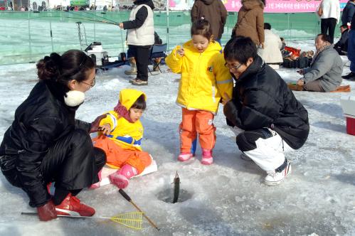
{"label": "black jacket of the squatting woman with white earmuffs", "polygon": [[38,82],[16,109],[14,122],[0,146],[1,171],[11,184],[27,193],[33,207],[44,205],[51,197],[41,174],[41,161],[48,148],[75,128],[90,130],[89,123],[75,119],[78,107],[65,105],[65,88],[60,86]]}

